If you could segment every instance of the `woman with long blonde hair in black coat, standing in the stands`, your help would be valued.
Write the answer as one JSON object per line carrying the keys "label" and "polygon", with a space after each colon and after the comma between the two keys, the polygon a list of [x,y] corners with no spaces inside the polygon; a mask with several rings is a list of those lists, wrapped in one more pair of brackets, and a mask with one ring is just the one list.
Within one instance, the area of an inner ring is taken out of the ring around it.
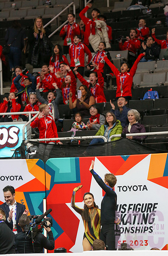
{"label": "woman with long blonde hair in black coat, standing in the stands", "polygon": [[47,32],[43,27],[42,17],[36,17],[34,27],[28,35],[28,43],[28,63],[34,67],[41,67],[43,63],[49,64],[53,44],[48,39]]}

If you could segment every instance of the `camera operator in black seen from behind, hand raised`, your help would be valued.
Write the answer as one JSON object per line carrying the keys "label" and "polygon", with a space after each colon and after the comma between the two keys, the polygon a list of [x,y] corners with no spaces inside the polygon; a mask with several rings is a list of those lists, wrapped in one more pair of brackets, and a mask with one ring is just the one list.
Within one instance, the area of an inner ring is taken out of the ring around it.
{"label": "camera operator in black seen from behind, hand raised", "polygon": [[[45,226],[43,226],[48,233],[48,239],[42,233],[38,232],[34,237],[34,247],[33,247],[32,239],[31,238],[25,239],[24,227],[29,224],[30,224],[30,219],[28,218],[28,216],[25,214],[22,214],[22,216],[19,219],[19,225],[22,229],[22,233],[18,233],[15,236],[15,243],[17,246],[18,253],[42,253],[43,248],[47,250],[53,250],[54,238],[53,238],[53,232],[51,231],[50,227],[46,228]],[[47,221],[47,224],[49,225],[50,222]]]}

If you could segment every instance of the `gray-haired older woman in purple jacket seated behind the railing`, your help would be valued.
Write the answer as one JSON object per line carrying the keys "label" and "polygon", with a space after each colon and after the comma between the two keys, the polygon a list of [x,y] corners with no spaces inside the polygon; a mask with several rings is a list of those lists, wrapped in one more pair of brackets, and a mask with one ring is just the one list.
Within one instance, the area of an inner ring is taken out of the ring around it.
{"label": "gray-haired older woman in purple jacket seated behind the railing", "polygon": [[[144,125],[141,125],[138,121],[140,120],[140,113],[136,109],[128,111],[129,125],[123,128],[123,133],[143,133],[146,132]],[[147,136],[127,136],[129,140],[137,140],[139,142],[146,139]]]}

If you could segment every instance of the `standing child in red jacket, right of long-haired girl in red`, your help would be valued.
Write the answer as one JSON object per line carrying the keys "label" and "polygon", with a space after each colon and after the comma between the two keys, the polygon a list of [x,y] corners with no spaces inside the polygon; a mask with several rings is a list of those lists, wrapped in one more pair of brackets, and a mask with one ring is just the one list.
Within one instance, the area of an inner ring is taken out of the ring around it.
{"label": "standing child in red jacket, right of long-haired girl in red", "polygon": [[73,70],[74,67],[78,67],[78,73],[81,76],[84,75],[84,53],[88,55],[88,64],[92,59],[92,53],[85,44],[81,44],[81,36],[75,35],[73,38],[73,44],[70,45],[70,67]]}

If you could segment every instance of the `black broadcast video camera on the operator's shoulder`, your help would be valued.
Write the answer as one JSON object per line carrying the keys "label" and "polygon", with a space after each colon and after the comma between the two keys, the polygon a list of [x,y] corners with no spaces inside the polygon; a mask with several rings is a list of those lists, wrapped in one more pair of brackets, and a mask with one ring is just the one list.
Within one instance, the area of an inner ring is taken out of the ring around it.
{"label": "black broadcast video camera on the operator's shoulder", "polygon": [[[26,233],[25,236],[27,236],[28,238],[31,238],[31,234],[33,233],[33,236],[35,237],[36,234],[38,232],[41,232],[42,233],[42,229],[43,229],[43,226],[45,226],[46,228],[47,227],[52,227],[53,226],[53,220],[52,218],[42,218],[42,220],[37,223],[38,221],[37,218],[39,218],[39,216],[41,215],[29,215],[28,217],[30,218],[30,224],[26,225],[24,227],[24,231]],[[49,225],[47,223],[47,221],[49,221]]]}

